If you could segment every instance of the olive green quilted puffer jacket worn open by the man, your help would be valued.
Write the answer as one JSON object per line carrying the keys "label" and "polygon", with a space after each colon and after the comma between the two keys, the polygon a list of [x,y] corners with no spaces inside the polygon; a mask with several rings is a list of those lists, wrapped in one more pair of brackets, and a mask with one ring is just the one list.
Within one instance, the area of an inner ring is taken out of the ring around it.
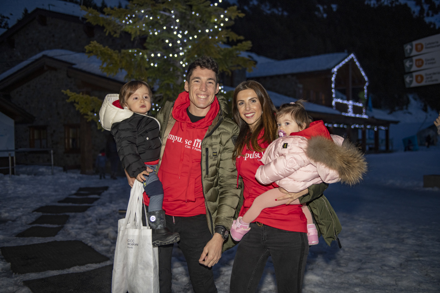
{"label": "olive green quilted puffer jacket worn open by the man", "polygon": [[[241,189],[237,188],[237,170],[232,159],[232,137],[238,135],[238,126],[227,117],[226,99],[221,96],[217,96],[217,99],[220,110],[202,140],[201,161],[206,220],[211,234],[214,234],[216,225],[222,225],[227,229],[231,227],[241,192]],[[159,167],[168,135],[176,123],[176,119],[172,117],[173,105],[174,103],[167,101],[157,115],[162,140]]]}

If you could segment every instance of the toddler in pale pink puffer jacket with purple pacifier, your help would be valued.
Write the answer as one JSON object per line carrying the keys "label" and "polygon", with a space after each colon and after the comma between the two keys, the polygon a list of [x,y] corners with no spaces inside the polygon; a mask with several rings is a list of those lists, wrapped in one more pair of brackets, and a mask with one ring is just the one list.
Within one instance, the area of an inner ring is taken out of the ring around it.
{"label": "toddler in pale pink puffer jacket with purple pacifier", "polygon": [[[322,120],[312,122],[304,108],[304,100],[284,104],[276,113],[279,138],[266,148],[255,177],[261,184],[275,182],[288,192],[300,192],[312,184],[342,181],[356,184],[366,171],[363,156],[357,148],[345,148],[344,138],[330,135]],[[351,168],[351,162],[362,163]],[[271,189],[258,196],[249,210],[238,217],[231,227],[231,236],[242,239],[261,210],[286,204],[277,200],[279,192]],[[299,199],[290,204],[300,204]],[[318,232],[306,204],[302,210],[307,218],[308,244],[318,244]]]}

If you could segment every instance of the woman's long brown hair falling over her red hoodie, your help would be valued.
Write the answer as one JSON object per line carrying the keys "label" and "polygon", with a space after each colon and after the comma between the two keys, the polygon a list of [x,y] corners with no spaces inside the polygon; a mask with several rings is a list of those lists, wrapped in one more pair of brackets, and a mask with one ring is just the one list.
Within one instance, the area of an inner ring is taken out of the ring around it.
{"label": "woman's long brown hair falling over her red hoodie", "polygon": [[[257,98],[260,101],[262,110],[261,119],[253,132],[250,130],[248,123],[246,123],[242,117],[240,117],[240,113],[238,112],[237,96],[242,90],[253,90],[257,94]],[[232,100],[232,116],[235,123],[237,123],[238,127],[240,128],[240,133],[238,134],[237,141],[235,142],[233,154],[234,159],[242,154],[245,146],[247,149],[262,152],[266,148],[261,148],[260,144],[263,142],[270,144],[276,138],[277,127],[275,112],[276,108],[272,103],[268,92],[264,89],[261,83],[255,80],[246,80],[235,88],[234,98]],[[258,139],[260,132],[263,129],[264,134],[260,139]]]}

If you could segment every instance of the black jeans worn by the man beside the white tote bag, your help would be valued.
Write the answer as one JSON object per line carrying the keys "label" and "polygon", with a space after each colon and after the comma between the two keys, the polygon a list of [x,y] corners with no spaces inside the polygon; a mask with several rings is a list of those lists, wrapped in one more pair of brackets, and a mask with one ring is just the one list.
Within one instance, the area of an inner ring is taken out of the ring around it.
{"label": "black jeans worn by the man beside the white tote bag", "polygon": [[[165,216],[166,226],[171,232],[179,232],[178,242],[187,260],[188,273],[194,293],[216,293],[212,268],[199,264],[198,260],[206,243],[213,237],[209,233],[206,215],[193,217]],[[174,220],[174,221],[173,221]],[[160,293],[171,293],[172,244],[159,246],[159,286]]]}

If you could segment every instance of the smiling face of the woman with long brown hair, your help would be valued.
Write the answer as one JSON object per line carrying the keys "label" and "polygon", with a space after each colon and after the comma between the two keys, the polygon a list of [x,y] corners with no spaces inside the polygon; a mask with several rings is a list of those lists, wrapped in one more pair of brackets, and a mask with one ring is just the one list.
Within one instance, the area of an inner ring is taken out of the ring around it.
{"label": "smiling face of the woman with long brown hair", "polygon": [[240,117],[248,123],[251,131],[260,123],[263,114],[260,100],[254,90],[246,89],[237,94],[237,108]]}

